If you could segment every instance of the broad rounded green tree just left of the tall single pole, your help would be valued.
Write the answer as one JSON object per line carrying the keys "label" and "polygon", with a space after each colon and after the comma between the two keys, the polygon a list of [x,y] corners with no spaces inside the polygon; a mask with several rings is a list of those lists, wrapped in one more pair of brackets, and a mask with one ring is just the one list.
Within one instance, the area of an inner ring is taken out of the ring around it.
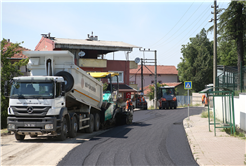
{"label": "broad rounded green tree just left of the tall single pole", "polygon": [[213,82],[213,44],[207,38],[203,28],[190,43],[182,45],[182,62],[178,64],[180,81],[192,81],[194,91],[204,89]]}

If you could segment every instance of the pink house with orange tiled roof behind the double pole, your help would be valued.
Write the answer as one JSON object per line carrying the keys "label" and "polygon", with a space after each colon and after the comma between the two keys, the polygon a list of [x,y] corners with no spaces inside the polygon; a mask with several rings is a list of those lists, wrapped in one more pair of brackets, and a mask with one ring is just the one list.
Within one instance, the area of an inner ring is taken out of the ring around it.
{"label": "pink house with orange tiled roof behind the double pole", "polygon": [[[143,87],[155,83],[154,73],[154,65],[143,66]],[[157,65],[157,82],[160,84],[178,82],[178,70],[176,67]],[[141,65],[138,65],[137,69],[130,70],[130,86],[135,89],[141,88]]]}

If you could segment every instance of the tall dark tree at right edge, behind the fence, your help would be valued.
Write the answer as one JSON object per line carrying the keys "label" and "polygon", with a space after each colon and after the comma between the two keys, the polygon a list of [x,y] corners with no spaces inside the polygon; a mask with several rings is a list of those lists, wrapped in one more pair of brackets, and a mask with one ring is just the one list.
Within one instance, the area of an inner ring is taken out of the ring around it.
{"label": "tall dark tree at right edge, behind the fence", "polygon": [[[222,12],[222,10],[219,10]],[[219,40],[223,44],[233,43],[236,45],[238,73],[241,73],[240,65],[244,66],[244,49],[245,49],[245,25],[246,25],[246,8],[245,0],[232,0],[228,8],[223,11],[218,17],[218,34]],[[211,31],[213,27],[209,28]],[[228,46],[228,45],[227,45]],[[222,48],[225,49],[225,48]],[[234,48],[232,48],[233,51]],[[223,55],[224,59],[234,59],[233,54],[229,51],[229,55]],[[225,61],[222,61],[225,62]],[[239,77],[239,82],[242,78]],[[239,84],[238,84],[239,86]],[[238,87],[239,88],[239,87]]]}

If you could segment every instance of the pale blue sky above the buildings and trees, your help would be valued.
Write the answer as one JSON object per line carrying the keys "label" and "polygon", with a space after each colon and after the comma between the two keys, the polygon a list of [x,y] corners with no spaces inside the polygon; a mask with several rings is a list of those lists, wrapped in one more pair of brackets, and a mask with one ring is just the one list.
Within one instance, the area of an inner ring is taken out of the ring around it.
{"label": "pale blue sky above the buildings and trees", "polygon": [[[227,8],[229,2],[217,0],[219,8]],[[99,40],[156,50],[158,65],[177,67],[182,45],[213,25],[208,22],[213,4],[214,0],[0,0],[0,37],[23,41],[21,46],[34,50],[41,34],[86,39],[93,32]],[[208,37],[213,40],[213,32]],[[106,55],[106,59],[113,57],[125,60],[126,52]],[[134,48],[129,59],[137,57],[154,59],[154,52]]]}

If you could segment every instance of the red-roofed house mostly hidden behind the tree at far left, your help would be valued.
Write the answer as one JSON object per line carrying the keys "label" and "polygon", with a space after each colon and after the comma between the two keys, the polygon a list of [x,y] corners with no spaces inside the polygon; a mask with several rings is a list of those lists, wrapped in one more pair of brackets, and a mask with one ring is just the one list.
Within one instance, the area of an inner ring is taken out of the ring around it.
{"label": "red-roofed house mostly hidden behind the tree at far left", "polygon": [[[7,41],[8,41],[8,43],[4,46],[3,52],[7,51],[8,47],[12,44],[10,42],[10,39],[8,39]],[[21,46],[17,50],[18,51],[21,50],[21,52],[20,53],[16,53],[16,54],[14,54],[14,56],[11,57],[10,61],[11,61],[12,64],[15,63],[15,62],[18,62],[18,61],[20,61],[22,59],[28,58],[27,56],[22,54],[22,51],[31,51],[30,49],[27,49],[27,48],[24,48],[24,47],[21,47]],[[2,67],[2,66],[0,65],[0,67]],[[28,72],[28,69],[27,69],[26,66],[21,66],[19,68],[19,70],[23,73],[24,76],[30,75],[30,72]]]}

